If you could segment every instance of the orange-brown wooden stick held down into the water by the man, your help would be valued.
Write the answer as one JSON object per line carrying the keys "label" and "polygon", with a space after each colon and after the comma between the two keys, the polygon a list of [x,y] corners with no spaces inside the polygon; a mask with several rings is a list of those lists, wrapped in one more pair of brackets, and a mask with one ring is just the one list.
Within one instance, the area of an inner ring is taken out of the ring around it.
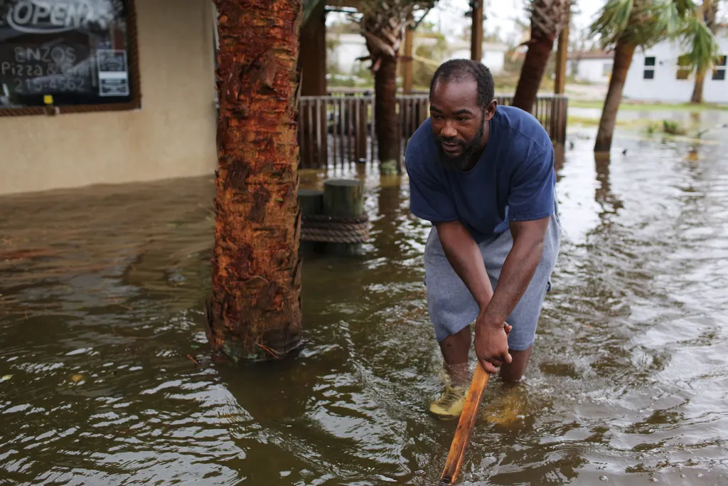
{"label": "orange-brown wooden stick held down into the water by the man", "polygon": [[460,415],[460,421],[457,424],[453,443],[450,445],[450,452],[445,462],[443,475],[440,476],[438,486],[453,485],[462,466],[462,460],[465,456],[465,447],[470,442],[470,433],[475,426],[475,418],[478,415],[478,407],[483,399],[483,392],[488,385],[488,372],[480,365],[475,368],[475,373],[470,382],[470,388],[465,397],[465,405]]}

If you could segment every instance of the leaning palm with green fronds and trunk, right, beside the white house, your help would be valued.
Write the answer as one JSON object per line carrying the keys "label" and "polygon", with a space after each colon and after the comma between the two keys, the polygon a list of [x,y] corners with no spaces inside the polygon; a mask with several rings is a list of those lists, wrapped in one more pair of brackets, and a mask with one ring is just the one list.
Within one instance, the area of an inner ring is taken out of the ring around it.
{"label": "leaning palm with green fronds and trunk, right, beside the white house", "polygon": [[711,62],[717,53],[717,43],[705,23],[697,21],[695,13],[692,0],[607,1],[590,28],[592,34],[600,37],[602,47],[614,47],[614,67],[599,120],[595,152],[608,152],[612,147],[622,90],[638,47],[646,48],[665,39],[681,37],[694,46],[702,46],[690,51],[689,66]]}

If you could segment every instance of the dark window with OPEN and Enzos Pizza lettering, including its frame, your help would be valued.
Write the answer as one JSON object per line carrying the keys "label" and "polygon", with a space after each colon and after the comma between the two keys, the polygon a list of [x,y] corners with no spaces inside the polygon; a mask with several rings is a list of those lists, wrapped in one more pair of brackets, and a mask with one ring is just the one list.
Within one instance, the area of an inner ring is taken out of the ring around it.
{"label": "dark window with OPEN and Enzos Pizza lettering, including its frame", "polygon": [[138,109],[133,0],[0,0],[0,116]]}

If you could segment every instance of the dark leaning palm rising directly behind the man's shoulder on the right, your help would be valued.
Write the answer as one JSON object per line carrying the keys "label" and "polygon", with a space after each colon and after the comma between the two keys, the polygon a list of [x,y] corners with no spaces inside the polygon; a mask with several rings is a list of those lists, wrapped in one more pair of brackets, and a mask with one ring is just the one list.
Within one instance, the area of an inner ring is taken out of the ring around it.
{"label": "dark leaning palm rising directly behind the man's shoulder on the right", "polygon": [[553,42],[569,19],[571,0],[531,0],[531,39],[513,95],[513,106],[531,111],[544,77]]}

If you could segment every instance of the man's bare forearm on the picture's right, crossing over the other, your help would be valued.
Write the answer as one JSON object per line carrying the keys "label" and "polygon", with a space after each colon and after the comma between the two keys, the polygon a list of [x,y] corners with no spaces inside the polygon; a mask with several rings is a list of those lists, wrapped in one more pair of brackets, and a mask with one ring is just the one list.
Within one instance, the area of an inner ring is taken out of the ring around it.
{"label": "man's bare forearm on the picture's right, crossing over the other", "polygon": [[544,238],[535,233],[513,235],[513,248],[503,262],[498,286],[483,316],[488,324],[502,326],[528,289],[544,248]]}

